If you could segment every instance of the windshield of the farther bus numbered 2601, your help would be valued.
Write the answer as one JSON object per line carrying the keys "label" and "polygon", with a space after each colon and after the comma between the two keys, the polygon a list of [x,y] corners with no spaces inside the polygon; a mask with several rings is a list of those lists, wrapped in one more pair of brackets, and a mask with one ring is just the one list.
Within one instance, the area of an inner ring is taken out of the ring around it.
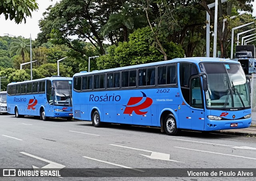
{"label": "windshield of the farther bus numbered 2601", "polygon": [[72,81],[53,81],[54,105],[72,106]]}

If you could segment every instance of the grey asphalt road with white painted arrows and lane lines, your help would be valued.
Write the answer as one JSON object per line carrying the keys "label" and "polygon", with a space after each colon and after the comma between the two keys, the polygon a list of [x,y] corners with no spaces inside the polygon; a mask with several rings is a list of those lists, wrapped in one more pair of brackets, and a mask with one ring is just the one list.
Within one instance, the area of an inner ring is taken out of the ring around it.
{"label": "grey asphalt road with white painted arrows and lane lines", "polygon": [[[150,157],[151,156],[151,157]],[[182,131],[168,136],[159,128],[110,124],[95,128],[91,122],[33,116],[0,115],[0,168],[256,168],[256,138]],[[256,172],[256,169],[254,169]],[[116,171],[116,170],[115,170]],[[0,177],[0,180],[254,180],[252,177]],[[119,175],[118,175],[119,174]],[[256,173],[254,173],[256,174]],[[1,175],[0,175],[1,176]]]}

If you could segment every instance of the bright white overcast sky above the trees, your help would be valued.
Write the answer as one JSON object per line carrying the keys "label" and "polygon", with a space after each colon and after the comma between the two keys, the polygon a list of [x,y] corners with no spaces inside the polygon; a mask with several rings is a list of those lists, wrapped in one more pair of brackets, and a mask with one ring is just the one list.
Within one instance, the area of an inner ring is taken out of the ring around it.
{"label": "bright white overcast sky above the trees", "polygon": [[[37,0],[38,11],[32,12],[32,18],[27,17],[26,24],[22,21],[21,24],[16,24],[14,20],[5,20],[3,15],[0,16],[0,36],[4,36],[4,33],[9,33],[14,36],[23,36],[24,38],[29,38],[31,33],[31,38],[36,39],[37,34],[40,32],[38,21],[43,18],[42,14],[45,12],[46,8],[50,5],[56,4],[60,0]],[[256,0],[253,2],[254,12],[253,16],[256,16]]]}

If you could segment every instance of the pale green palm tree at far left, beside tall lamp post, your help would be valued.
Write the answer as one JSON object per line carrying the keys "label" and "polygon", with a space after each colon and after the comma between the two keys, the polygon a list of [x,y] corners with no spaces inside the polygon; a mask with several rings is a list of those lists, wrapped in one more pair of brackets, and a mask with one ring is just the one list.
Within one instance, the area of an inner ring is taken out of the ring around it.
{"label": "pale green palm tree at far left, beside tall lamp post", "polygon": [[[20,40],[24,43],[26,43],[27,45],[30,43],[28,42],[28,40],[20,38]],[[13,41],[10,44],[10,53],[16,53],[16,55],[21,55],[22,56],[22,63],[24,63],[25,61],[25,55],[30,53],[30,46],[25,45],[24,43],[22,43],[20,41]]]}

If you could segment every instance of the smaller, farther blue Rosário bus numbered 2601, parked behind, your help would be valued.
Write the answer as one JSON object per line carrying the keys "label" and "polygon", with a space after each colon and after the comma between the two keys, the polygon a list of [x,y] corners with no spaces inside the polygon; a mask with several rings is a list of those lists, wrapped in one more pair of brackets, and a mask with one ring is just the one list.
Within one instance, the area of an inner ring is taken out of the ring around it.
{"label": "smaller, farther blue Ros\u00e1rio bus numbered 2601, parked behind", "polygon": [[16,118],[27,115],[40,116],[44,121],[49,117],[71,120],[72,78],[56,76],[8,84],[7,111]]}

